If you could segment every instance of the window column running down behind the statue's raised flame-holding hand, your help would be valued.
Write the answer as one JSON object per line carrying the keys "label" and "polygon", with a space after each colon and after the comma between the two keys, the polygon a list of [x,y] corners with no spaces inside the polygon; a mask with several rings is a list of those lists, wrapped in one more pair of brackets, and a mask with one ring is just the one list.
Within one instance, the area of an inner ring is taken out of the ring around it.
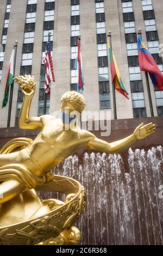
{"label": "window column running down behind the statue's raised flame-holding hand", "polygon": [[[20,75],[31,75],[32,73],[32,59],[33,59],[33,48],[34,48],[34,34],[35,34],[35,17],[37,9],[37,0],[28,0],[26,9],[26,23],[24,26],[24,39],[22,47],[22,61]],[[15,126],[17,126],[18,115],[22,107],[23,96],[18,86],[17,95],[17,108]]]}

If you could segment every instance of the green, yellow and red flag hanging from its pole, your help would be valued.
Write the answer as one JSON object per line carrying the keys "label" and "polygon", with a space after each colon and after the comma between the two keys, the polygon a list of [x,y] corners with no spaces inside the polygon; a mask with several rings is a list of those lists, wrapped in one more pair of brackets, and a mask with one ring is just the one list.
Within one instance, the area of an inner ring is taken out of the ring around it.
{"label": "green, yellow and red flag hanging from its pole", "polygon": [[123,96],[129,99],[128,92],[122,82],[120,70],[118,69],[118,65],[114,56],[114,52],[112,52],[109,39],[108,39],[108,50],[109,50],[109,57],[110,57],[111,82],[114,83],[114,87],[119,93],[121,93]]}

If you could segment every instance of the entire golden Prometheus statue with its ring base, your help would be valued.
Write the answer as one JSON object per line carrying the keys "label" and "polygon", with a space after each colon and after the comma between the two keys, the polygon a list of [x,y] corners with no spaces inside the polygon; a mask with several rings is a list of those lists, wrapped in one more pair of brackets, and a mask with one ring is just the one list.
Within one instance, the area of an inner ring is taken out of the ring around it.
{"label": "entire golden Prometheus statue with its ring base", "polygon": [[[0,150],[0,244],[77,245],[81,234],[73,223],[85,207],[84,188],[76,180],[53,175],[51,169],[82,147],[117,153],[152,135],[155,125],[142,123],[129,137],[107,143],[77,126],[77,116],[85,107],[82,94],[62,95],[62,119],[52,115],[30,118],[34,77],[19,76],[14,80],[20,84],[24,96],[18,126],[41,131],[34,141],[12,139]],[[70,118],[72,112],[77,114]],[[61,192],[67,197],[65,202],[41,200],[36,191]]]}

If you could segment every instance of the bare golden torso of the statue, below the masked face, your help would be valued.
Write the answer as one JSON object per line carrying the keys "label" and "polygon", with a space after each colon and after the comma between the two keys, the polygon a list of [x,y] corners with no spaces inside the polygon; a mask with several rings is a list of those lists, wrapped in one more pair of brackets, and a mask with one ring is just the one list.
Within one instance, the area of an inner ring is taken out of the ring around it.
{"label": "bare golden torso of the statue, below the masked face", "polygon": [[65,131],[60,119],[52,117],[42,122],[43,129],[28,148],[28,152],[32,160],[46,172],[94,137],[90,132],[77,128]]}

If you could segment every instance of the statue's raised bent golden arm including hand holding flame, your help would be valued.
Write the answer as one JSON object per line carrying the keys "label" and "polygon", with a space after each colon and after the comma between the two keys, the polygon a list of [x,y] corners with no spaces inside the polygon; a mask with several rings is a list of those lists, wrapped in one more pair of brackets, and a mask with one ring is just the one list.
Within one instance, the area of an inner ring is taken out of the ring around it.
{"label": "statue's raised bent golden arm including hand holding flame", "polygon": [[14,81],[20,84],[22,94],[24,96],[21,111],[18,117],[18,127],[21,129],[39,129],[42,128],[40,117],[29,118],[29,109],[35,94],[34,77],[30,75],[18,76]]}

